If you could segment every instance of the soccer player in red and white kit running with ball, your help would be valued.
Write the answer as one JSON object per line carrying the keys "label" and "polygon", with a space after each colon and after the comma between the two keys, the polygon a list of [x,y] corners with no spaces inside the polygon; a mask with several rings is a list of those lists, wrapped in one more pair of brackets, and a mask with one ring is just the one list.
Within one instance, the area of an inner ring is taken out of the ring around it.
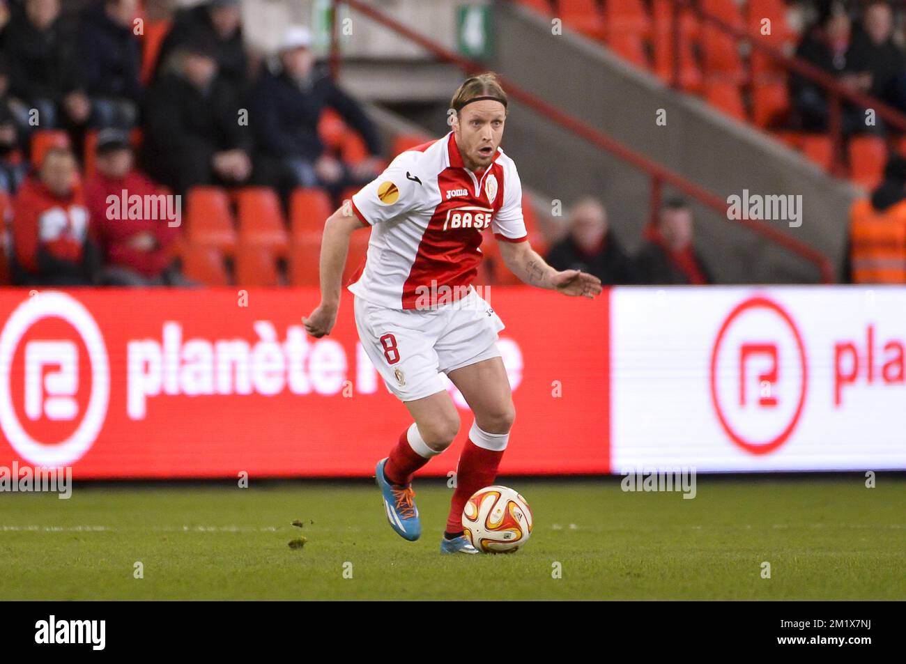
{"label": "soccer player in red and white kit running with ball", "polygon": [[496,346],[504,325],[471,285],[484,231],[490,227],[506,266],[526,284],[588,298],[602,290],[591,274],[554,270],[526,242],[519,175],[499,148],[506,107],[496,74],[467,79],[450,102],[452,131],[400,154],[333,213],[321,246],[321,303],[303,318],[314,337],[331,331],[350,236],[371,226],[364,269],[349,290],[362,346],[415,420],[375,469],[387,519],[405,539],[421,534],[412,476],[459,430],[439,371],[475,416],[441,553],[477,553],[463,534],[462,510],[473,493],[494,484],[516,417]]}

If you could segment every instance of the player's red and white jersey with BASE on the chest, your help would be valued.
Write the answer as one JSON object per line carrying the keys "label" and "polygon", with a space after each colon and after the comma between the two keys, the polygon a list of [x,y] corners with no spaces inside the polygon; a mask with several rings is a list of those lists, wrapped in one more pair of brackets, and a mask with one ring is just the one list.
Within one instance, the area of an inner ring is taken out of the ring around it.
{"label": "player's red and white jersey with BASE on the chest", "polygon": [[444,286],[464,292],[488,226],[498,241],[527,239],[513,159],[497,149],[477,176],[463,164],[453,132],[393,159],[352,197],[352,210],[373,227],[364,269],[349,290],[391,309],[416,309],[419,297],[424,302]]}

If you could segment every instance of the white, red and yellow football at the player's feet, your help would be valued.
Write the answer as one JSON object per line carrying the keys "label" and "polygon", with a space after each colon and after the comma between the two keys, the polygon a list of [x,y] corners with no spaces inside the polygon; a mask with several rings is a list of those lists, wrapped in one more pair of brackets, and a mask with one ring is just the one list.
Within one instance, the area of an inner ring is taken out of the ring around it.
{"label": "white, red and yellow football at the player's feet", "polygon": [[468,499],[462,527],[478,551],[513,553],[532,534],[532,510],[508,486],[486,486]]}

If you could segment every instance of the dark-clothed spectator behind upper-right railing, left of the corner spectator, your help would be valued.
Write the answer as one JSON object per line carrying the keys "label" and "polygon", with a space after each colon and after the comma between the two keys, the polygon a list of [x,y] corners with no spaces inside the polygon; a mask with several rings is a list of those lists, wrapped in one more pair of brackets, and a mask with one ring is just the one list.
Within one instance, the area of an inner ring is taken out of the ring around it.
{"label": "dark-clothed spectator behind upper-right railing, left of the corner spectator", "polygon": [[[867,92],[872,85],[868,72],[854,72],[847,62],[850,44],[850,17],[843,5],[822,5],[821,14],[796,48],[795,55],[834,76],[852,91]],[[826,131],[830,101],[824,87],[801,74],[790,76],[790,100],[804,130]],[[877,130],[866,127],[863,111],[851,103],[841,104],[843,133]]]}

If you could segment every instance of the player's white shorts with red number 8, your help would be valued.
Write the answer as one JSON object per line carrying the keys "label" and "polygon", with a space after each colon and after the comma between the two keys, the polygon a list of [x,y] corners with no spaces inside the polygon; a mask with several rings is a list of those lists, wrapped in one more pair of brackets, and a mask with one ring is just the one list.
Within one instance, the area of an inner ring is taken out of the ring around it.
{"label": "player's white shorts with red number 8", "polygon": [[499,357],[504,323],[472,289],[436,309],[390,309],[355,298],[359,339],[387,389],[402,401],[445,390],[439,372]]}

